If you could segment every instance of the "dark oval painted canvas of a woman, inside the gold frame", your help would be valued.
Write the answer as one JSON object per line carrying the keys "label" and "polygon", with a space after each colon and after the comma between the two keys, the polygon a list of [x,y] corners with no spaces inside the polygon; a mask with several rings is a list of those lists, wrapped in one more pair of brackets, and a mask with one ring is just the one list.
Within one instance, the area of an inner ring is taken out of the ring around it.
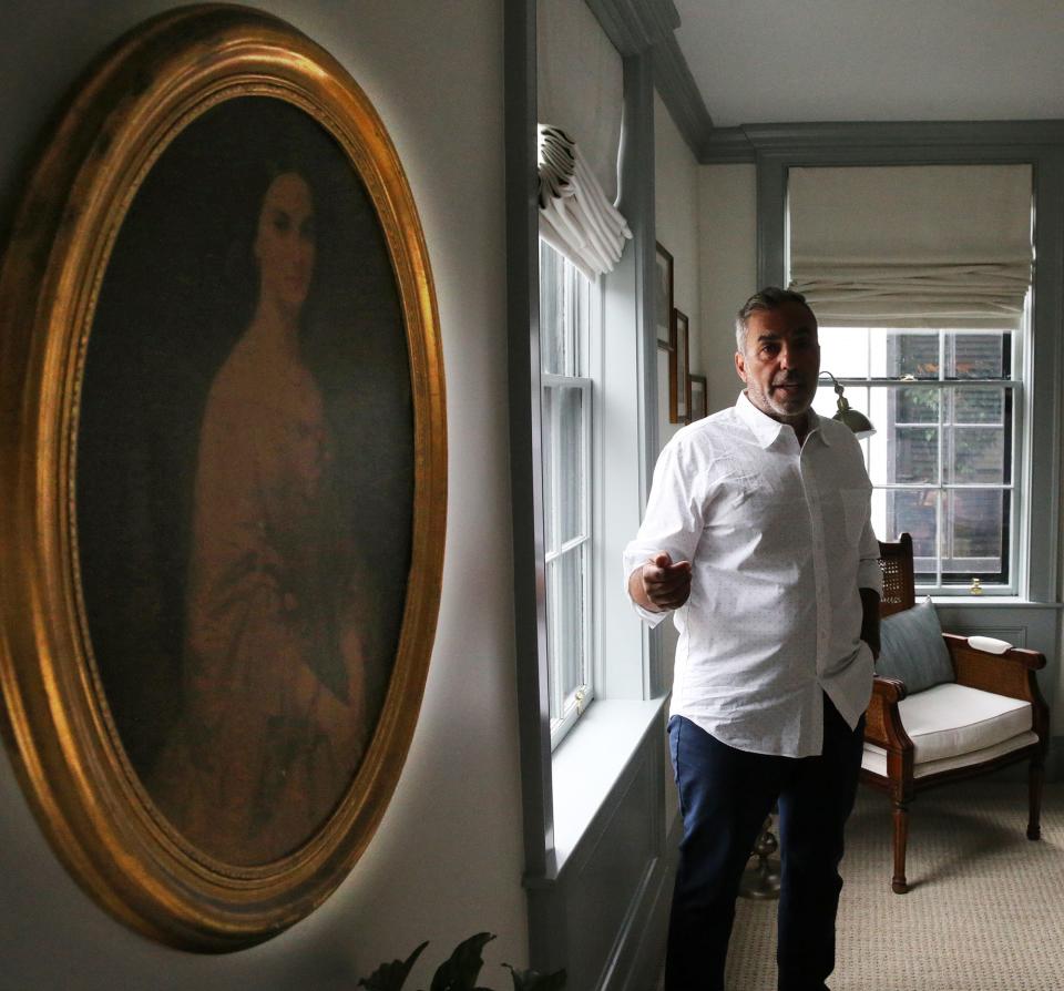
{"label": "dark oval painted canvas of a woman, inside the gold frame", "polygon": [[[129,758],[186,840],[254,865],[315,835],[371,742],[412,425],[388,254],[351,166],[290,108],[232,103],[163,156],[116,245],[109,276],[147,288],[104,286],[80,503]],[[142,244],[163,222],[168,264]],[[149,346],[143,326],[171,329]]]}

